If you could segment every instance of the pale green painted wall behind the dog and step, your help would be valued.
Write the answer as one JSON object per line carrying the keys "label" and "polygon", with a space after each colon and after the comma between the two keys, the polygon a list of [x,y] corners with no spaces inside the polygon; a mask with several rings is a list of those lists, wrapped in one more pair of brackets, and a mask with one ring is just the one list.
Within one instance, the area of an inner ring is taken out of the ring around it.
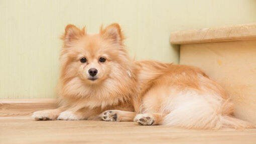
{"label": "pale green painted wall behind the dog and step", "polygon": [[132,56],[178,63],[172,31],[253,22],[256,0],[0,0],[0,18],[0,98],[55,97],[68,23],[118,22]]}

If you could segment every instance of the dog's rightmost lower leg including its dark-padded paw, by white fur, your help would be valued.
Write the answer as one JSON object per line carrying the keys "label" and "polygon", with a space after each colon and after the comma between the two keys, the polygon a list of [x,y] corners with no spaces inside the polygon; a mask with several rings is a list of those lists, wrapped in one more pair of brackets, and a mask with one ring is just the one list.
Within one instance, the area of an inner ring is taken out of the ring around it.
{"label": "dog's rightmost lower leg including its dark-padded paw, by white fur", "polygon": [[162,124],[163,117],[164,116],[160,113],[143,113],[137,114],[134,121],[141,125],[158,125]]}

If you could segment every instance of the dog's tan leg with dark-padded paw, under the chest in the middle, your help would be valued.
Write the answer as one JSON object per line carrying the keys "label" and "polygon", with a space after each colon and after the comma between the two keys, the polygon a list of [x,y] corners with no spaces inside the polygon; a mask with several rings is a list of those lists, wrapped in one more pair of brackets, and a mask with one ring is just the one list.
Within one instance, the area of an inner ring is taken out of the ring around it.
{"label": "dog's tan leg with dark-padded paw, under the chest in the middle", "polygon": [[105,121],[133,121],[136,112],[123,110],[106,110],[99,116]]}

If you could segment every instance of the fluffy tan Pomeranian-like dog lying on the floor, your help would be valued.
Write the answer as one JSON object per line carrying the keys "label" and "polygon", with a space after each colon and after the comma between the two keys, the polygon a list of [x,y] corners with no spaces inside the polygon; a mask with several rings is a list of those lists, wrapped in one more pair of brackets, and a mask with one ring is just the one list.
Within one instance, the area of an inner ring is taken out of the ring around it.
{"label": "fluffy tan Pomeranian-like dog lying on the floor", "polygon": [[232,117],[224,90],[197,67],[134,61],[116,23],[87,34],[67,25],[62,36],[60,107],[36,120],[102,119],[186,128],[249,128]]}

